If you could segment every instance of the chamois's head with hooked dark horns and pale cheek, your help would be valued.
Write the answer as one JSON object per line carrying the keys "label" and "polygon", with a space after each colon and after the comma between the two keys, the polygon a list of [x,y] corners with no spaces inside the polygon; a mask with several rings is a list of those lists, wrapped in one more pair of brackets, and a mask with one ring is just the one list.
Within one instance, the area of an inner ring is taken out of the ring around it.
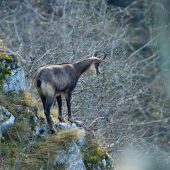
{"label": "chamois's head with hooked dark horns and pale cheek", "polygon": [[91,71],[93,74],[95,75],[99,75],[100,74],[100,68],[99,65],[102,61],[105,61],[104,59],[106,58],[106,53],[104,52],[104,57],[103,59],[97,58],[99,51],[95,51],[93,56],[91,57],[91,59],[93,60],[92,64],[90,65],[90,67],[88,68],[88,71]]}

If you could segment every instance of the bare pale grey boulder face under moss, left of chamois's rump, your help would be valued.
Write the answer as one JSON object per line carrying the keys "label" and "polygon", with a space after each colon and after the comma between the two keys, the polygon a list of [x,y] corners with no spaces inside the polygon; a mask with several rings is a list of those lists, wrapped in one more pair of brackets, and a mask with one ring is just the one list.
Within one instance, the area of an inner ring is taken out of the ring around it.
{"label": "bare pale grey boulder face under moss, left of chamois's rump", "polygon": [[11,75],[7,74],[5,76],[5,81],[3,84],[4,91],[8,93],[13,91],[18,93],[20,90],[25,90],[25,75],[22,68],[13,69],[10,71]]}

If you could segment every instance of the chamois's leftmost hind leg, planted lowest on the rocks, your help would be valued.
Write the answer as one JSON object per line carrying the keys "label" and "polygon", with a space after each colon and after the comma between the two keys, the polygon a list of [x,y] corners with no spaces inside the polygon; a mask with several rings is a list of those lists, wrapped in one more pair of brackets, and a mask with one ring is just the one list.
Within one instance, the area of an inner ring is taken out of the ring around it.
{"label": "chamois's leftmost hind leg, planted lowest on the rocks", "polygon": [[50,116],[50,108],[51,108],[51,106],[54,102],[54,98],[55,97],[51,97],[51,96],[46,97],[46,104],[45,104],[45,109],[44,109],[44,113],[45,113],[45,116],[46,116],[46,119],[47,119],[51,133],[55,133],[53,123],[52,123],[52,119],[51,119],[51,116]]}

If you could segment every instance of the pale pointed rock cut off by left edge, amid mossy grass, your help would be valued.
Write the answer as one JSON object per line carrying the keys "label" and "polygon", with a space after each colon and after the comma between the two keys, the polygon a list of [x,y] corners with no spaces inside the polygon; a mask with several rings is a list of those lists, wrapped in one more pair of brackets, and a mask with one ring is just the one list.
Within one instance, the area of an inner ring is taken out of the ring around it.
{"label": "pale pointed rock cut off by left edge, amid mossy grass", "polygon": [[14,124],[14,121],[15,117],[3,106],[0,106],[0,137],[8,126]]}

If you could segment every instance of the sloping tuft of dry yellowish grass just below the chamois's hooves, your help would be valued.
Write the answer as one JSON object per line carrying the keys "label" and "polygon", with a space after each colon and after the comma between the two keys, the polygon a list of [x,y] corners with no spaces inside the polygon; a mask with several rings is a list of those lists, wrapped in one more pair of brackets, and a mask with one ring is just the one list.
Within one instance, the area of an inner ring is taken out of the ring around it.
{"label": "sloping tuft of dry yellowish grass just below the chamois's hooves", "polygon": [[[39,142],[32,153],[26,154],[21,159],[20,169],[48,169],[52,168],[51,162],[55,159],[57,152],[67,148],[67,145],[78,138],[80,130],[65,130],[57,135],[48,135],[46,139]],[[33,146],[34,147],[34,146]],[[58,168],[64,165],[58,165]],[[48,167],[48,168],[47,168]]]}

